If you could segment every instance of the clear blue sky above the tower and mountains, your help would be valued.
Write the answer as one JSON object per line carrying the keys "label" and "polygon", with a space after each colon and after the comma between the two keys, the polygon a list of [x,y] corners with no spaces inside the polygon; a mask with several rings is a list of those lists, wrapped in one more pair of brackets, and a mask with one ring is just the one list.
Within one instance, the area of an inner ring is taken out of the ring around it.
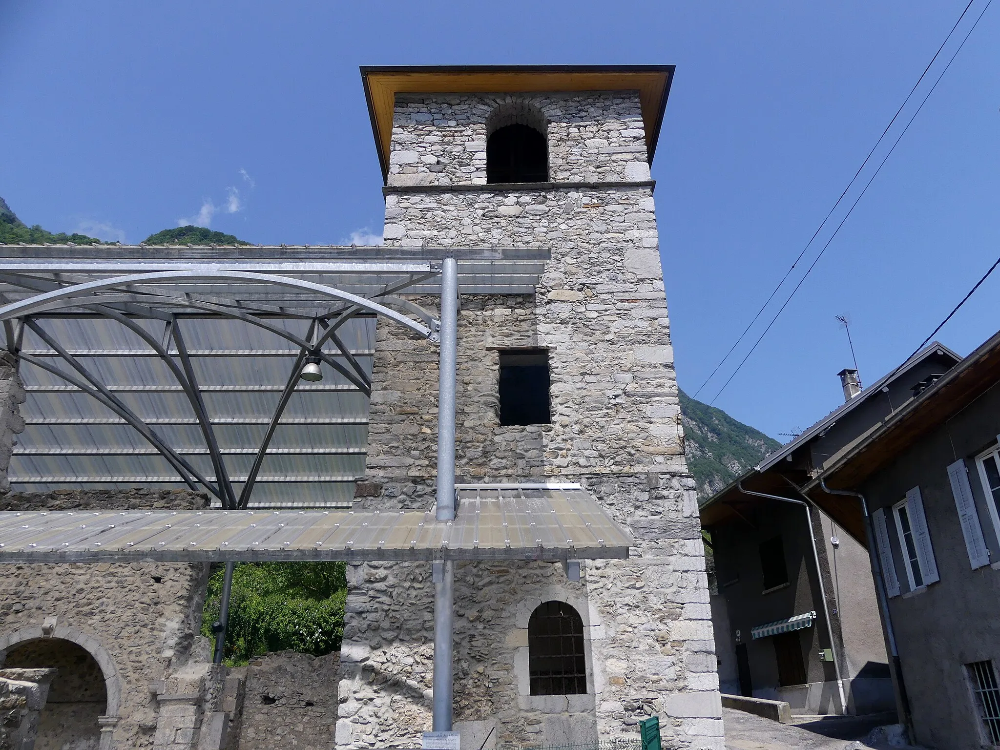
{"label": "clear blue sky above the tower and mountains", "polygon": [[[0,196],[29,224],[127,242],[210,219],[253,242],[340,243],[382,225],[359,65],[675,64],[653,177],[693,393],[966,1],[0,0]],[[1000,6],[716,406],[787,440],[842,398],[836,314],[872,382],[1000,255],[998,38]],[[988,338],[998,292],[1000,273],[939,338],[961,354]]]}

